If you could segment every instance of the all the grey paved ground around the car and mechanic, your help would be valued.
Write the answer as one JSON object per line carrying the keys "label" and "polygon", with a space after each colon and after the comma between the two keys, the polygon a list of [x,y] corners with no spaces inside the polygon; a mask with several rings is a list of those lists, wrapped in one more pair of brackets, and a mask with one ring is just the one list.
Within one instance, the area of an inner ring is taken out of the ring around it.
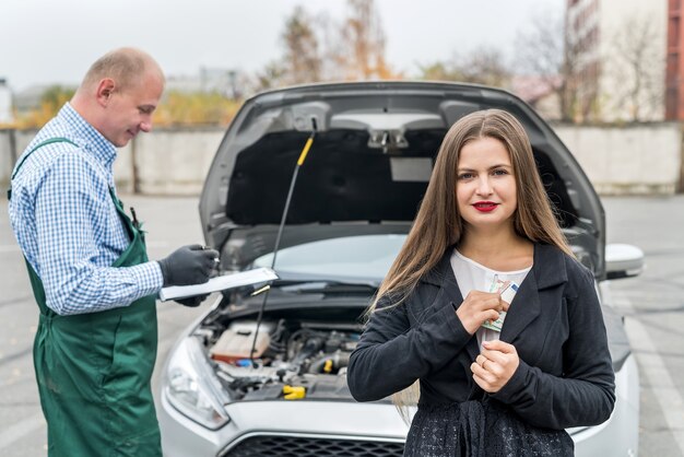
{"label": "all the grey paved ground around the car and mechanic", "polygon": [[[201,243],[196,198],[126,197],[146,221],[150,257]],[[37,309],[23,260],[0,206],[0,455],[39,457],[45,452],[31,348]],[[641,370],[641,456],[684,455],[684,196],[605,198],[608,238],[641,247],[648,268],[636,279],[613,282],[616,302]],[[209,303],[209,301],[208,301]],[[176,336],[202,308],[157,305],[161,364]],[[608,456],[606,456],[608,457]]]}

